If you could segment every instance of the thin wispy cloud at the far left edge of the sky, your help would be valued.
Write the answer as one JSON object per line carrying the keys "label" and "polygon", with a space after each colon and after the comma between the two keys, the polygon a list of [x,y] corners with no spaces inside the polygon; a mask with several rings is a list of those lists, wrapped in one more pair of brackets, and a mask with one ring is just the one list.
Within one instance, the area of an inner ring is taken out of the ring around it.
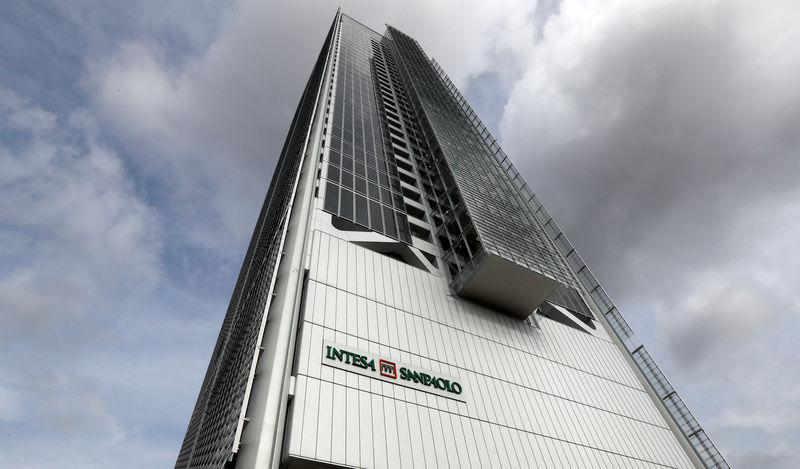
{"label": "thin wispy cloud at the far left edge of the sky", "polygon": [[80,364],[113,342],[131,296],[159,282],[160,230],[93,126],[0,89],[0,239],[11,240],[0,270],[0,426],[15,429],[0,451],[12,466],[29,431],[48,447],[125,437]]}

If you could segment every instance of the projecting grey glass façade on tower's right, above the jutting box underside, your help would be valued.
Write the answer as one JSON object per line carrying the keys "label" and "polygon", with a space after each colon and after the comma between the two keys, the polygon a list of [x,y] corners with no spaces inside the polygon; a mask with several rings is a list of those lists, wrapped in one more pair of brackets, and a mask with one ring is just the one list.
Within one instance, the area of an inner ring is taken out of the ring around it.
{"label": "projecting grey glass fa\u00e7ade on tower's right, above the jutting box underside", "polygon": [[[391,40],[383,44],[393,51],[429,147],[423,152],[425,167],[436,176],[430,179],[429,195],[442,207],[437,237],[446,230],[453,246],[462,246],[459,241],[468,226],[474,225],[477,232],[471,241],[480,244],[480,249],[462,249],[453,256],[461,260],[459,273],[452,279],[455,291],[469,282],[481,264],[475,256],[486,254],[577,286],[519,186],[508,176],[508,168],[495,157],[499,148],[486,143],[459,103],[457,90],[440,78],[416,41],[392,27],[388,31]],[[466,221],[450,223],[456,214]]]}

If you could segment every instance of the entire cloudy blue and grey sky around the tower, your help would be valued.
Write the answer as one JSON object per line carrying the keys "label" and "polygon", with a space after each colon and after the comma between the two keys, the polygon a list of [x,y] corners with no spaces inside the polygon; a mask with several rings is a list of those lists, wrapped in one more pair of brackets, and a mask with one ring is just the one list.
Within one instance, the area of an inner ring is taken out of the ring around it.
{"label": "entire cloudy blue and grey sky around the tower", "polygon": [[[171,467],[338,4],[0,5],[0,466]],[[736,468],[800,466],[800,3],[343,2],[417,38]]]}

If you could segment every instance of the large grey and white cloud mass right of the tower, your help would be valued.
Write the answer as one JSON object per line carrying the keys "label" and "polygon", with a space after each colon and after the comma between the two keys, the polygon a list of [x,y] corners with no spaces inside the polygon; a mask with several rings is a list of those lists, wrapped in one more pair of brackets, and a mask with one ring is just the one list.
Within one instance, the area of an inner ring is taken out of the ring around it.
{"label": "large grey and white cloud mass right of the tower", "polygon": [[500,126],[734,466],[800,439],[798,8],[564,0]]}

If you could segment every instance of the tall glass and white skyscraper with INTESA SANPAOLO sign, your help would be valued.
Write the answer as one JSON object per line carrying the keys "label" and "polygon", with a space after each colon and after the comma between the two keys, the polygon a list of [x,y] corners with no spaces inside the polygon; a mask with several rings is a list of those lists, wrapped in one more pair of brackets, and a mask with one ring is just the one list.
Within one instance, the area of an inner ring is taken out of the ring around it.
{"label": "tall glass and white skyscraper with INTESA SANPAOLO sign", "polygon": [[339,466],[728,467],[442,68],[341,13],[176,462]]}

